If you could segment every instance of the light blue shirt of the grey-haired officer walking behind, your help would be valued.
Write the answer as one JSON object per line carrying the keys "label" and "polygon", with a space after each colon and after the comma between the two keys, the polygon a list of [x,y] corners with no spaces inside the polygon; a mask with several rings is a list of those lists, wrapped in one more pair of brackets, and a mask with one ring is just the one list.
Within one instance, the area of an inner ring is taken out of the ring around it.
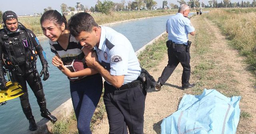
{"label": "light blue shirt of the grey-haired officer walking behind", "polygon": [[166,32],[168,32],[168,40],[172,40],[177,44],[188,45],[188,33],[194,32],[190,20],[181,13],[171,16],[166,22]]}

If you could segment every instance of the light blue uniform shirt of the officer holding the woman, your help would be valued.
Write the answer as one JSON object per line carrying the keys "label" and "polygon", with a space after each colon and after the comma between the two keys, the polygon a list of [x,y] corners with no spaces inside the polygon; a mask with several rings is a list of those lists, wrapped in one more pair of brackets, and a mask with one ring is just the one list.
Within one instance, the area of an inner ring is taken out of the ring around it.
{"label": "light blue uniform shirt of the officer holding the woman", "polygon": [[140,75],[140,63],[132,44],[121,33],[102,26],[99,47],[95,49],[98,61],[110,71],[110,75],[124,75],[123,84],[136,80]]}

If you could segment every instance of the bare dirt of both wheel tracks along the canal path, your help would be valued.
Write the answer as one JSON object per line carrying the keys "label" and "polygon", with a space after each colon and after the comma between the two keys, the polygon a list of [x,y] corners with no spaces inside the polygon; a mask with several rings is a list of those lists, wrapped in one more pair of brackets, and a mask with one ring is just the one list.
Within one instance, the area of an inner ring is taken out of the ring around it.
{"label": "bare dirt of both wheel tracks along the canal path", "polygon": [[[198,17],[192,18],[192,24],[197,29],[199,27]],[[253,88],[254,78],[250,72],[246,71],[246,65],[242,62],[244,59],[238,56],[238,52],[231,49],[228,46],[227,40],[221,35],[220,30],[211,23],[209,20],[205,20],[210,29],[214,32],[216,40],[213,43],[212,49],[214,51],[222,51],[218,57],[218,64],[220,68],[226,66],[232,67],[233,79],[236,79],[239,83],[235,86],[240,89],[242,100],[240,101],[241,111],[247,112],[251,115],[249,119],[241,119],[238,124],[237,134],[255,134],[256,132],[256,107],[255,98],[256,93]],[[190,36],[190,40],[194,40],[194,37]],[[214,47],[218,46],[218,47]],[[194,47],[191,47],[190,53],[193,55]],[[167,53],[164,53],[165,57],[162,61],[159,61],[159,65],[152,70],[148,70],[153,77],[158,79],[161,75],[162,70],[167,65],[168,57]],[[228,61],[228,62],[226,62]],[[191,68],[195,67],[195,59],[191,59]],[[144,114],[144,134],[160,134],[160,124],[163,118],[170,116],[178,108],[180,99],[187,91],[181,90],[181,74],[182,67],[178,65],[171,77],[166,81],[161,91],[150,91],[146,97],[146,109]],[[195,77],[190,78],[190,82],[199,81]],[[108,120],[105,117],[103,122],[96,126],[93,134],[108,134]]]}

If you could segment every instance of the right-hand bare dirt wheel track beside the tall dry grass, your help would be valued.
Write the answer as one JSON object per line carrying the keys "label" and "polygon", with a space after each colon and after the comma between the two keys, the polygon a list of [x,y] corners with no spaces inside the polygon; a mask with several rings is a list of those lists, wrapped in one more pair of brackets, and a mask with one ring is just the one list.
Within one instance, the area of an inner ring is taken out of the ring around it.
{"label": "right-hand bare dirt wheel track beside the tall dry grass", "polygon": [[[222,51],[223,54],[219,55],[219,63],[221,68],[232,67],[232,77],[238,83],[234,83],[233,86],[236,86],[239,89],[242,99],[240,101],[240,109],[242,113],[249,113],[250,118],[240,118],[240,122],[237,128],[237,134],[255,134],[256,132],[256,107],[255,107],[255,98],[256,93],[254,91],[254,76],[247,71],[247,66],[243,61],[244,57],[238,55],[238,51],[232,49],[228,46],[228,41],[225,36],[223,36],[220,30],[215,24],[206,20],[210,29],[212,29],[216,36],[216,40],[212,45],[212,49],[216,51]],[[218,46],[218,47],[216,47]]]}

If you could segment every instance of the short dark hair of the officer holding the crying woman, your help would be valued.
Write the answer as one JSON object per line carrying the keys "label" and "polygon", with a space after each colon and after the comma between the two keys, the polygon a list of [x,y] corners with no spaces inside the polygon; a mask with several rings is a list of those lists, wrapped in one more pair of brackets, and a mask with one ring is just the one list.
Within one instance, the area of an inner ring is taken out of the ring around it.
{"label": "short dark hair of the officer holding the crying woman", "polygon": [[75,14],[68,20],[68,29],[74,37],[77,37],[83,31],[92,32],[94,26],[98,27],[98,24],[90,14],[85,12]]}

